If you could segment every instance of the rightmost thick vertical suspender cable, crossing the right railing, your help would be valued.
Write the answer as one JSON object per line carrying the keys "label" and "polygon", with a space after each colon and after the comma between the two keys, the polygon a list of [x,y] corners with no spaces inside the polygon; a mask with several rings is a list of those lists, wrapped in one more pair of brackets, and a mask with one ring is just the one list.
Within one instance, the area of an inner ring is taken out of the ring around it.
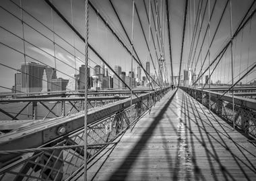
{"label": "rightmost thick vertical suspender cable, crossing the right railing", "polygon": [[[230,0],[230,56],[231,56],[231,76],[232,76],[232,85],[234,84],[234,66],[233,66],[233,40],[232,40],[232,0]],[[232,121],[233,121],[233,130],[234,130],[234,87],[232,88]]]}

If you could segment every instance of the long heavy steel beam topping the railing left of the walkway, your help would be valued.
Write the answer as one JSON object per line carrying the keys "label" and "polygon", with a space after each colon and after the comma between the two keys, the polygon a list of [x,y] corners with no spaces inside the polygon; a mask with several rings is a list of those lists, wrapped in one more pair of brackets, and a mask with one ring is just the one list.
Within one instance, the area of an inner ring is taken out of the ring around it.
{"label": "long heavy steel beam topping the railing left of the walkway", "polygon": [[[168,91],[169,88],[164,88]],[[156,91],[156,95],[160,95],[161,91]],[[140,100],[145,101],[148,97],[153,96],[154,92],[140,95],[139,98],[134,97],[133,105]],[[130,99],[124,99],[108,105],[103,105],[88,112],[88,126],[96,121],[100,121],[105,117],[109,117],[122,111],[130,106]],[[0,136],[0,150],[8,149],[25,149],[30,147],[39,147],[57,139],[63,135],[71,133],[77,129],[84,127],[84,113],[79,112],[68,117],[59,117],[45,121],[38,121],[36,124],[28,125],[22,130],[6,133]],[[5,162],[9,158],[7,156],[0,156],[0,162]]]}

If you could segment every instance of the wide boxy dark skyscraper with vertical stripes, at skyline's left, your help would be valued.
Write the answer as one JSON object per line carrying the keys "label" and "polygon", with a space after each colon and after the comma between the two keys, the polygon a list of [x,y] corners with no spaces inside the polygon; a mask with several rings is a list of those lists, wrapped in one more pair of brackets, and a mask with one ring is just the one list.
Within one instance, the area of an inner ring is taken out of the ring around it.
{"label": "wide boxy dark skyscraper with vertical stripes, at skyline's left", "polygon": [[22,92],[36,93],[42,91],[42,74],[46,66],[36,62],[22,63]]}

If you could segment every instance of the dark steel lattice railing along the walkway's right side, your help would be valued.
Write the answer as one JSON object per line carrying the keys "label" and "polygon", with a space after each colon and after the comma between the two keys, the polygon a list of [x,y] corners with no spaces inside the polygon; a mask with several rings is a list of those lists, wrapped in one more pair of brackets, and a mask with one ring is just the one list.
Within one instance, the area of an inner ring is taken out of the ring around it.
{"label": "dark steel lattice railing along the walkway's right side", "polygon": [[[192,87],[180,87],[226,121],[233,123],[232,95],[223,95]],[[209,97],[210,93],[210,97]],[[210,99],[210,100],[209,100]],[[210,104],[209,104],[210,101]],[[247,135],[256,138],[256,100],[234,96],[234,124]]]}

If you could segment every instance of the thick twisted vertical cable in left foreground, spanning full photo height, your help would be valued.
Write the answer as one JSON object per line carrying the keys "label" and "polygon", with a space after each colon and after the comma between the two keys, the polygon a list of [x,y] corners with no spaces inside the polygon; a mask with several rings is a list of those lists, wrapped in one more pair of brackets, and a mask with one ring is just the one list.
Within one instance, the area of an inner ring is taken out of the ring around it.
{"label": "thick twisted vertical cable in left foreground, spanning full photo height", "polygon": [[85,36],[84,36],[84,44],[85,44],[85,57],[84,57],[84,63],[85,63],[85,83],[84,83],[84,180],[87,181],[87,88],[88,88],[88,30],[89,30],[89,24],[88,24],[88,0],[85,1]]}

